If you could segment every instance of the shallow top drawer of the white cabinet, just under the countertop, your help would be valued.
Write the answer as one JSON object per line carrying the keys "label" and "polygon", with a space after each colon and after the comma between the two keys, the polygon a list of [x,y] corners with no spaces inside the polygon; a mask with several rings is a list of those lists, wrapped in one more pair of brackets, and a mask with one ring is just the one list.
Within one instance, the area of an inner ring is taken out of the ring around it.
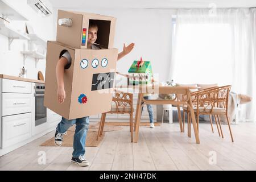
{"label": "shallow top drawer of the white cabinet, just under the countertop", "polygon": [[31,93],[31,82],[2,79],[2,92]]}

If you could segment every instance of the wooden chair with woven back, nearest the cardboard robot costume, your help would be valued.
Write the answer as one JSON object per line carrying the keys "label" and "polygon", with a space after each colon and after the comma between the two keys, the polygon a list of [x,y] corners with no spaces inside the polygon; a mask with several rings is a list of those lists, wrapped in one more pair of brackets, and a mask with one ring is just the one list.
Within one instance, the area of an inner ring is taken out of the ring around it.
{"label": "wooden chair with woven back, nearest the cardboard robot costume", "polygon": [[112,102],[111,110],[101,114],[97,140],[103,133],[106,114],[130,114],[131,142],[133,142],[133,94],[114,89]]}

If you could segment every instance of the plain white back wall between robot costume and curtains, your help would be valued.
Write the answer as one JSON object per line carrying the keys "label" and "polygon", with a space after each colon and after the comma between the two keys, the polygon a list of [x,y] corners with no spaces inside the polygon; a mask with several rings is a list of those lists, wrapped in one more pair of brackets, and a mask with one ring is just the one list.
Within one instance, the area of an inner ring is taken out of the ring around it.
{"label": "plain white back wall between robot costume and curtains", "polygon": [[[114,47],[123,49],[123,43],[134,42],[134,50],[118,61],[117,71],[127,73],[133,60],[142,56],[151,61],[159,81],[168,80],[171,60],[171,18],[172,9],[63,9],[97,13],[117,18]],[[56,32],[57,9],[54,9],[53,28]]]}

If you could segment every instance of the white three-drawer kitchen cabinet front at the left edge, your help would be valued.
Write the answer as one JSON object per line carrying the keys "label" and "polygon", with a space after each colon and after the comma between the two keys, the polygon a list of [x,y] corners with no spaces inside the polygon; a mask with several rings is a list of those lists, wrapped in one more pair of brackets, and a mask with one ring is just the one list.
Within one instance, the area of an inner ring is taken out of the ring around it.
{"label": "white three-drawer kitchen cabinet front at the left edge", "polygon": [[0,78],[1,148],[31,137],[32,83]]}

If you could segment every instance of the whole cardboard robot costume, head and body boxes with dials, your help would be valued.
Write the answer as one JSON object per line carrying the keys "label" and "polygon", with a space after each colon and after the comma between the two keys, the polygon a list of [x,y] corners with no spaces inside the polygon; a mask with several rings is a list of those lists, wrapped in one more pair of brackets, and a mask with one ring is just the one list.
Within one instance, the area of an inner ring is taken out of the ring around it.
{"label": "whole cardboard robot costume, head and body boxes with dials", "polygon": [[[89,22],[98,26],[96,45],[87,49]],[[75,11],[58,11],[57,41],[47,42],[44,105],[66,119],[111,110],[118,49],[113,48],[115,18]],[[72,61],[64,71],[65,100],[57,97],[56,64],[68,51]]]}

